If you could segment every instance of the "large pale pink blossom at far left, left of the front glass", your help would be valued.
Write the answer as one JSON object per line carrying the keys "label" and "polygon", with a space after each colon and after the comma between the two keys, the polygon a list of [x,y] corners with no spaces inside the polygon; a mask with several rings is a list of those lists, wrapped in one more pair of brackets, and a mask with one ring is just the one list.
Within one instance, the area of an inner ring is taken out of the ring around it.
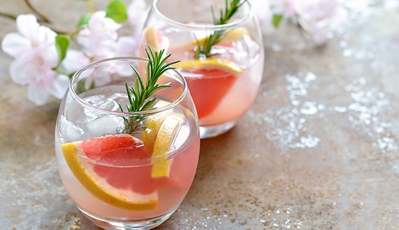
{"label": "large pale pink blossom at far left, left of the front glass", "polygon": [[19,15],[18,33],[6,34],[1,48],[15,57],[10,64],[10,76],[15,83],[29,85],[28,98],[45,104],[48,94],[61,98],[69,78],[55,72],[59,62],[55,49],[55,32],[38,24],[34,15]]}

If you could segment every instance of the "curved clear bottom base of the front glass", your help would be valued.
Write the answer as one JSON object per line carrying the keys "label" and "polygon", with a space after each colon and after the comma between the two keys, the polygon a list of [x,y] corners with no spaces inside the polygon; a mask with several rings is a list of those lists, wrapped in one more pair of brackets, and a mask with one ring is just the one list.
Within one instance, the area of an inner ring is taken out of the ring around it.
{"label": "curved clear bottom base of the front glass", "polygon": [[138,220],[132,220],[132,219],[109,219],[109,218],[102,218],[102,217],[96,217],[94,215],[91,215],[88,212],[85,212],[84,210],[81,210],[79,208],[80,212],[83,213],[87,219],[90,219],[91,222],[96,224],[97,226],[102,227],[103,229],[153,229],[156,226],[160,226],[163,222],[167,221],[169,217],[172,216],[172,214],[177,210],[175,208],[174,210],[167,212],[165,215],[161,215],[158,217],[153,217],[150,219],[138,219]]}

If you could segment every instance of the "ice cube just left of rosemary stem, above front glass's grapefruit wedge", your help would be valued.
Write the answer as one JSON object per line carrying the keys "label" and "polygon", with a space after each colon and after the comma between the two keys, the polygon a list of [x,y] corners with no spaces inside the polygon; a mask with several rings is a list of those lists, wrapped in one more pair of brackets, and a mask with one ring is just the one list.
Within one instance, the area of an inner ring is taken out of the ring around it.
{"label": "ice cube just left of rosemary stem, above front glass's grapefruit wedge", "polygon": [[115,134],[124,128],[123,118],[117,116],[100,116],[84,125],[85,132],[90,133],[90,136]]}

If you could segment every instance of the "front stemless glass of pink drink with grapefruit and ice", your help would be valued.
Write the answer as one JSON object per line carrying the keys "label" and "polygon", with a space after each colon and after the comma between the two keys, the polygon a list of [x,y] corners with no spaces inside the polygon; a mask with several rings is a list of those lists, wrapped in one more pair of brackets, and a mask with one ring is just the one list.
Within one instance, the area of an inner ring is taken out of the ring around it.
{"label": "front stemless glass of pink drink with grapefruit and ice", "polygon": [[[146,84],[147,62],[114,57],[82,67],[59,107],[59,175],[78,209],[104,229],[162,224],[183,201],[197,169],[197,114],[176,69],[158,79],[171,87],[156,91],[153,107],[140,112],[120,109],[130,103],[125,82],[135,86],[137,79],[131,65]],[[127,133],[130,121],[137,121],[137,129]]]}

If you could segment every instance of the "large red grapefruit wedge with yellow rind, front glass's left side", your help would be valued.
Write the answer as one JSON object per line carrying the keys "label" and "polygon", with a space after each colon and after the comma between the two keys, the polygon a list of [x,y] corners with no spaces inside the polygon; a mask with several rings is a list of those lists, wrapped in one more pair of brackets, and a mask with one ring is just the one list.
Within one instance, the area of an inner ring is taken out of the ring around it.
{"label": "large red grapefruit wedge with yellow rind, front glass's left side", "polygon": [[151,154],[141,140],[127,134],[106,135],[62,144],[62,151],[73,175],[93,196],[126,210],[157,208]]}

